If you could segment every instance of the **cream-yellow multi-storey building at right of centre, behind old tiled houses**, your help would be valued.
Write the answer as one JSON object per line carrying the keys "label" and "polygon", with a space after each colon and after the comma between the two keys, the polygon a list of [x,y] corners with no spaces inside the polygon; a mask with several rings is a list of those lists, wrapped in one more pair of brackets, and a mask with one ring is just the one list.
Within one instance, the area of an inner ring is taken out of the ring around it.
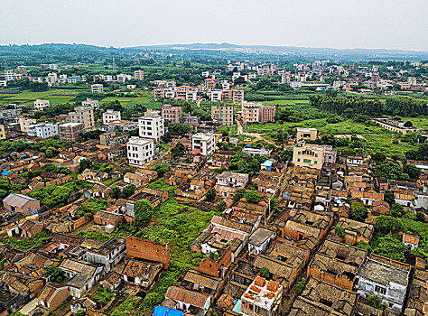
{"label": "cream-yellow multi-storey building at right of centre, behind old tiled houses", "polygon": [[316,144],[297,144],[293,148],[293,164],[299,167],[321,169],[325,148]]}

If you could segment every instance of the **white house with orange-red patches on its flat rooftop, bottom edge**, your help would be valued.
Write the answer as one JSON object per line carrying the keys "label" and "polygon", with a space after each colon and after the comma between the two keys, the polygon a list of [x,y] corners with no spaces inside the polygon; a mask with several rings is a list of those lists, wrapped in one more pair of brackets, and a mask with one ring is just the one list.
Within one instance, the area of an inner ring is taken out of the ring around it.
{"label": "white house with orange-red patches on its flat rooftop, bottom edge", "polygon": [[240,313],[247,316],[280,315],[283,292],[281,284],[256,276],[241,297]]}

